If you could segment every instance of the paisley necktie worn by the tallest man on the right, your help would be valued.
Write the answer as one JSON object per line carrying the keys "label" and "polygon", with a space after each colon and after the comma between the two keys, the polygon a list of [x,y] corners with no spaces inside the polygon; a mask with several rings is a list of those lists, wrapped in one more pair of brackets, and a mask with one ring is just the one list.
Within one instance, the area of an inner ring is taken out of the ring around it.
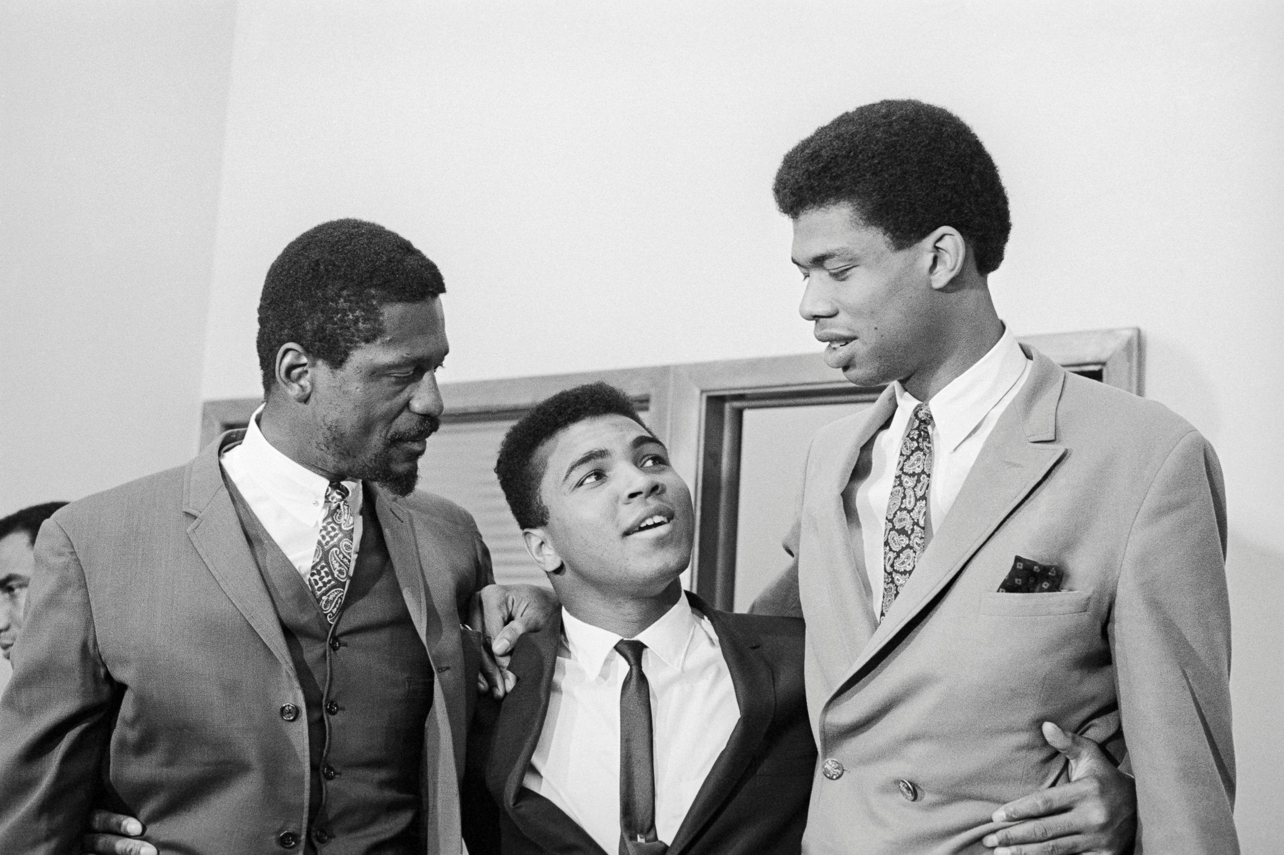
{"label": "paisley necktie worn by the tallest man on the right", "polygon": [[914,407],[909,428],[900,443],[896,476],[887,497],[887,522],[883,526],[882,620],[895,602],[918,556],[927,546],[927,489],[932,480],[932,411],[926,403]]}

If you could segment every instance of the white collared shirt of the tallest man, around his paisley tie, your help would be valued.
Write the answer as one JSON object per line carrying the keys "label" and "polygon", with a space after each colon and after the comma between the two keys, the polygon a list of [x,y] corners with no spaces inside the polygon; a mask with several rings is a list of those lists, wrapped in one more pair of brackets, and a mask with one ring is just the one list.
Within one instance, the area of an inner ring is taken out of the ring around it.
{"label": "white collared shirt of the tallest man, around his paisley tie", "polygon": [[[994,430],[994,424],[1021,392],[1030,376],[1031,361],[1007,329],[989,353],[954,377],[932,395],[932,478],[927,490],[928,533],[940,529],[954,499],[963,487],[981,447]],[[865,573],[873,592],[874,611],[882,603],[883,528],[887,521],[887,499],[896,476],[900,444],[909,429],[909,420],[921,401],[905,392],[900,381],[896,412],[891,424],[873,440],[869,475],[856,485],[856,515],[865,557]]]}

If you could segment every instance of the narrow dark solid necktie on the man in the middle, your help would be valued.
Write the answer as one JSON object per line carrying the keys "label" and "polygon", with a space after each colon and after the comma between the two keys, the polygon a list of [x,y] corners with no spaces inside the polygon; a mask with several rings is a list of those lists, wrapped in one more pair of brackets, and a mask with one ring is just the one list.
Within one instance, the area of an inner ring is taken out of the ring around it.
{"label": "narrow dark solid necktie on the man in the middle", "polygon": [[655,756],[651,734],[651,686],[642,673],[639,641],[620,641],[615,652],[629,664],[620,687],[620,852],[664,855],[669,846],[655,833]]}

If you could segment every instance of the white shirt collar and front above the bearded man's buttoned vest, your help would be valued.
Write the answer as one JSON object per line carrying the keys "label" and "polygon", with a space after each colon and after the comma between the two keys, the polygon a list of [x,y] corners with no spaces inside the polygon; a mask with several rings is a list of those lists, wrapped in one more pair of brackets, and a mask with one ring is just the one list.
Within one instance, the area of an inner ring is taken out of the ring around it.
{"label": "white shirt collar and front above the bearded man's buttoned vest", "polygon": [[[330,483],[306,466],[279,452],[258,429],[261,406],[250,416],[245,438],[227,448],[218,461],[227,478],[240,490],[249,510],[281,547],[290,564],[307,579],[321,520],[325,517],[325,492]],[[356,520],[353,555],[361,548],[361,481],[344,481],[348,507]]]}

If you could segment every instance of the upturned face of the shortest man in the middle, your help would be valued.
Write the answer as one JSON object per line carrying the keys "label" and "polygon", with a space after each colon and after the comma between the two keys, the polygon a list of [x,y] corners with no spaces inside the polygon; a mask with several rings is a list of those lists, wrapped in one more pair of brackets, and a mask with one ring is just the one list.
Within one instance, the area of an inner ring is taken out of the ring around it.
{"label": "upturned face of the shortest man in the middle", "polygon": [[663,592],[690,564],[695,534],[691,492],[664,444],[632,419],[609,415],[577,422],[547,445],[539,494],[548,522],[535,531],[565,566],[560,584],[611,597]]}

